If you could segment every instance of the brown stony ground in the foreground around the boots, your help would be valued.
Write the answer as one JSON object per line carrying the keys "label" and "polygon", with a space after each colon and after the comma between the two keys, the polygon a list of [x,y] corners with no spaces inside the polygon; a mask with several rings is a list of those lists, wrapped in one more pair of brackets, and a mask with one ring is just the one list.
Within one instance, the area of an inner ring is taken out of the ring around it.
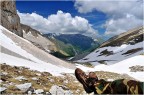
{"label": "brown stony ground in the foreground around the boots", "polygon": [[[57,77],[48,72],[33,71],[22,66],[10,66],[5,63],[0,66],[1,94],[88,95],[73,74]],[[99,79],[107,81],[120,78],[133,79],[126,74],[104,71],[95,73]]]}

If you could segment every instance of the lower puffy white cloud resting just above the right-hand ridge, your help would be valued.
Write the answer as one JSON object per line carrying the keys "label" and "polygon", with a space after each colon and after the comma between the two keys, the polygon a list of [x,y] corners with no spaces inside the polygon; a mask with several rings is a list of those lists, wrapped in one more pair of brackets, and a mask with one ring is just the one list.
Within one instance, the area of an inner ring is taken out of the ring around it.
{"label": "lower puffy white cloud resting just above the right-hand ridge", "polygon": [[111,35],[111,36],[117,35],[142,25],[143,25],[142,20],[136,18],[133,15],[127,15],[126,17],[118,18],[118,19],[112,18],[106,21],[105,35]]}

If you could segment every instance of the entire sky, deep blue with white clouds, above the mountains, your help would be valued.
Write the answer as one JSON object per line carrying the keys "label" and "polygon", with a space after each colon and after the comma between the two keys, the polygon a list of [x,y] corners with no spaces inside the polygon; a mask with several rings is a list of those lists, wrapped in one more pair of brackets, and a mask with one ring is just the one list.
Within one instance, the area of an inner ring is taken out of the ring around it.
{"label": "entire sky, deep blue with white clouds, above the mountains", "polygon": [[142,0],[16,1],[21,23],[43,34],[109,38],[143,25]]}

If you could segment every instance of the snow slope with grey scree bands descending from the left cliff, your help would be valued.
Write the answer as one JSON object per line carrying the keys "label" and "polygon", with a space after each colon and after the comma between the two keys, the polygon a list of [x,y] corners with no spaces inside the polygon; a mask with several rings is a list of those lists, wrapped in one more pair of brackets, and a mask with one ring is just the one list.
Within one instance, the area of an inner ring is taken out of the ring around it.
{"label": "snow slope with grey scree bands descending from the left cliff", "polygon": [[0,26],[1,60],[12,66],[24,66],[31,70],[46,71],[52,75],[64,72],[73,72],[74,65],[60,60],[41,50],[28,40],[17,36],[11,31]]}

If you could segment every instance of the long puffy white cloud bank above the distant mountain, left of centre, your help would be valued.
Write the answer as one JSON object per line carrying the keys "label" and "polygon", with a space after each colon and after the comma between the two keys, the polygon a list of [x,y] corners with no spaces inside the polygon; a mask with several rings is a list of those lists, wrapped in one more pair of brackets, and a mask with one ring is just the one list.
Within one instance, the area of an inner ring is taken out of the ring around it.
{"label": "long puffy white cloud bank above the distant mountain, left of centre", "polygon": [[94,30],[87,19],[75,16],[70,13],[58,11],[57,14],[52,14],[48,18],[37,13],[20,13],[21,23],[31,26],[39,30],[43,34],[46,33],[65,33],[65,34],[83,34],[96,37],[98,32]]}

